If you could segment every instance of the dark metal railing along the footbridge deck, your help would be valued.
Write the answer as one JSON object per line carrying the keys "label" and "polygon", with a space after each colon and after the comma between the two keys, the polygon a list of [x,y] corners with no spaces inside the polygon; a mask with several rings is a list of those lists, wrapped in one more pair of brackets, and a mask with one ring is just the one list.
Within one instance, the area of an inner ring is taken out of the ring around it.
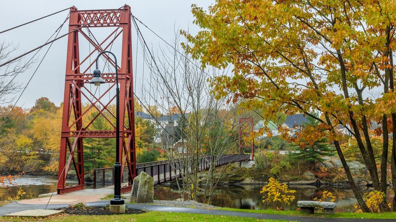
{"label": "dark metal railing along the footbridge deck", "polygon": [[[216,159],[216,167],[223,166],[228,163],[235,163],[239,161],[247,161],[250,160],[249,154],[223,154],[220,157],[217,155],[214,156],[205,156],[200,160],[198,170],[204,171],[210,168],[210,164],[212,163],[212,158]],[[109,171],[112,170],[113,174]],[[167,182],[173,180],[175,178],[180,178],[185,173],[192,172],[192,164],[191,160],[186,158],[178,158],[173,160],[164,160],[164,161],[154,161],[148,163],[140,163],[136,164],[136,170],[138,175],[141,172],[145,172],[154,179],[154,184],[160,184],[161,182]],[[106,173],[107,171],[107,173]],[[110,176],[112,179],[106,180],[107,176]],[[124,175],[123,178],[126,178],[127,175]],[[112,186],[114,184],[114,167],[107,167],[101,169],[95,169],[93,173],[93,189],[99,187]],[[98,182],[97,182],[98,181]]]}

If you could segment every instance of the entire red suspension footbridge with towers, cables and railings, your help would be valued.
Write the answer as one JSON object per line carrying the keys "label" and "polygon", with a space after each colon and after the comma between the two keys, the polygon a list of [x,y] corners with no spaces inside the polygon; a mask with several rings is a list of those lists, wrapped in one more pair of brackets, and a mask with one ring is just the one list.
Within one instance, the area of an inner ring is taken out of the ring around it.
{"label": "entire red suspension footbridge with towers, cables and railings", "polygon": [[[7,65],[31,52],[40,50],[42,47],[68,36],[68,47],[67,52],[65,52],[67,58],[59,151],[58,194],[85,188],[84,141],[86,141],[87,138],[119,138],[119,159],[116,160],[116,162],[121,164],[121,181],[124,180],[127,182],[126,186],[121,189],[121,192],[131,190],[133,179],[140,172],[148,173],[154,178],[155,183],[161,183],[181,177],[183,174],[192,171],[191,162],[183,158],[144,164],[136,163],[133,50],[131,45],[132,24],[137,27],[135,17],[131,14],[130,7],[127,5],[113,10],[78,10],[76,7],[71,7],[68,33],[59,37],[56,35],[53,40],[47,41],[42,46],[0,64],[0,67]],[[0,33],[14,28],[4,30]],[[90,29],[99,28],[108,29],[108,32],[107,34],[102,33],[101,38],[95,38]],[[137,30],[139,31],[138,28]],[[83,52],[81,50],[82,42],[86,44],[84,45],[85,48],[89,46],[88,52]],[[105,89],[102,95],[96,94],[96,87],[95,89],[91,89],[86,85],[93,77],[91,68],[94,61],[91,61],[91,56],[111,50],[113,47],[120,49],[120,66],[116,65],[114,59],[106,54],[103,54],[103,63],[105,66],[107,65],[109,67],[109,70],[110,67],[118,70],[120,88],[120,108],[118,114],[113,113],[110,107],[112,102],[116,99],[116,95],[113,93],[116,88],[115,72],[109,71],[102,74],[102,78],[108,83],[108,88]],[[83,101],[86,101],[88,104],[84,109],[82,107]],[[96,115],[88,117],[88,115],[92,113],[92,110]],[[117,115],[120,117],[118,118],[118,124],[121,126],[118,134],[116,132],[116,124],[114,123],[114,119]],[[111,125],[112,129],[95,130],[93,125],[95,121],[101,118],[106,120],[108,124]],[[247,140],[241,142],[241,139],[244,139],[242,137],[246,137],[246,135],[253,130],[253,121],[251,119],[243,119],[240,121],[240,124],[242,127],[239,127],[239,154],[205,156],[199,162],[199,171],[206,170],[213,164],[217,167],[250,159],[250,155],[241,154],[241,147],[249,147],[253,152],[253,142],[248,142]],[[216,161],[213,161],[214,159],[216,159]],[[95,184],[96,179],[100,180],[99,178],[102,178],[101,181],[103,186],[106,170],[111,171],[112,168],[96,169],[94,171]],[[66,186],[65,181],[70,171],[75,172],[77,184]]]}

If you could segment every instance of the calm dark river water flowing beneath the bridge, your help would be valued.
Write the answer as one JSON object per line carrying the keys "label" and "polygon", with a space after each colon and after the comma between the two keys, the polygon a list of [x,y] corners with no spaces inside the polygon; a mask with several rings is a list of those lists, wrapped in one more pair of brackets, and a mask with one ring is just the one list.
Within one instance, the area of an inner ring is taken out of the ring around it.
{"label": "calm dark river water flowing beneath the bridge", "polygon": [[[15,180],[16,183],[22,185],[22,190],[26,192],[22,199],[37,198],[40,194],[51,193],[56,187],[56,177],[48,176],[28,176],[24,175]],[[67,181],[67,184],[73,184],[73,181]],[[92,187],[87,186],[87,189]],[[260,194],[262,186],[235,186],[235,187],[218,187],[212,197],[212,205],[219,207],[240,208],[240,209],[272,209],[267,203],[262,203],[262,195]],[[19,187],[0,188],[0,200],[8,200],[9,197],[15,197]],[[328,190],[337,198],[337,212],[351,212],[356,199],[351,190],[337,188],[315,188],[315,187],[293,187],[295,190],[295,200],[290,204],[288,210],[297,208],[299,200],[313,200],[315,197],[320,198],[322,192]],[[372,189],[360,188],[361,192],[367,193]],[[56,192],[56,190],[55,190]],[[392,189],[387,190],[389,200],[393,198]],[[175,200],[180,198],[180,194],[171,186],[155,186],[155,200]],[[203,192],[197,194],[199,202],[203,202]],[[388,201],[389,201],[388,200]]]}

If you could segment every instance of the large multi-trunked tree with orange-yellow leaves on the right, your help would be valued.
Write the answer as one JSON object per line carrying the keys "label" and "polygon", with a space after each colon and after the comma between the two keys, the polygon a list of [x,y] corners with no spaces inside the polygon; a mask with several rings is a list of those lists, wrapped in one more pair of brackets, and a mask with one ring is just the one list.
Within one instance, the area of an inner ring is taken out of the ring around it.
{"label": "large multi-trunked tree with orange-yellow leaves on the right", "polygon": [[[304,128],[294,143],[312,144],[323,136],[333,141],[358,204],[369,212],[336,128],[344,126],[356,140],[374,189],[384,193],[390,151],[396,184],[396,137],[391,146],[388,142],[396,133],[395,9],[396,2],[390,0],[217,0],[208,11],[192,6],[194,23],[202,31],[195,36],[184,32],[193,43],[184,47],[203,66],[232,67],[232,75],[211,81],[217,98],[246,98],[242,106],[265,107],[265,119],[277,112],[316,118],[319,124]],[[373,91],[380,91],[380,96],[368,97]],[[379,123],[376,133],[383,137],[379,174],[369,135],[373,122]],[[389,210],[386,199],[382,211]],[[396,197],[392,208],[396,209]]]}

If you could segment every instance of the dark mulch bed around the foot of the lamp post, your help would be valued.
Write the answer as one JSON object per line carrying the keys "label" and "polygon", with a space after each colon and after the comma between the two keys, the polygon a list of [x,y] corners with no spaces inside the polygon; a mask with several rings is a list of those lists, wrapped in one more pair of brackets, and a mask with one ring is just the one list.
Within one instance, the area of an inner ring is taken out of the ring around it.
{"label": "dark mulch bed around the foot of the lamp post", "polygon": [[145,213],[144,210],[125,209],[125,213],[112,213],[109,207],[74,207],[56,208],[55,210],[63,210],[67,214],[73,215],[113,215],[113,214],[136,214]]}

